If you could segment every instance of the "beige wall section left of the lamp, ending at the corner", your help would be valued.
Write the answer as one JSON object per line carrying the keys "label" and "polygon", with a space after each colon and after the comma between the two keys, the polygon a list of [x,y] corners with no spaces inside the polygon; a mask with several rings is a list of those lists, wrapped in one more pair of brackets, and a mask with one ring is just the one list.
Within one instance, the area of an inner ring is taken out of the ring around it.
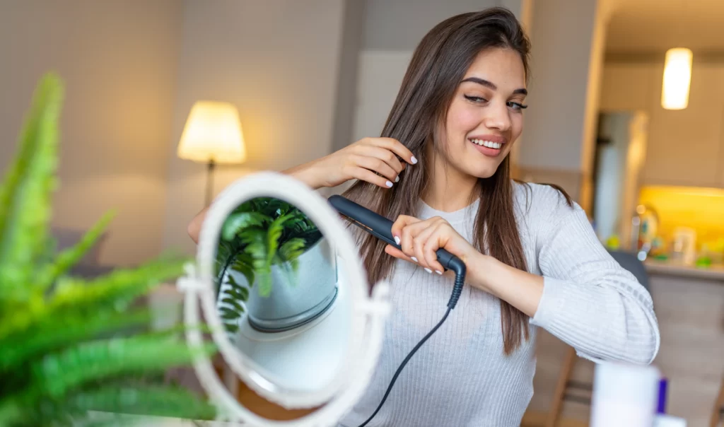
{"label": "beige wall section left of the lamp, ending at the corner", "polygon": [[66,84],[55,227],[118,215],[101,263],[161,249],[182,5],[175,0],[5,1],[0,6],[0,173],[33,88]]}

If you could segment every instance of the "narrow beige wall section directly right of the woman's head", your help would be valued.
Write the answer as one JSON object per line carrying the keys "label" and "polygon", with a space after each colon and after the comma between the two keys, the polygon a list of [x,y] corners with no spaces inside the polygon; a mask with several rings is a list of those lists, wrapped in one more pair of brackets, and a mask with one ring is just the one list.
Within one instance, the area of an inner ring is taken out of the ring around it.
{"label": "narrow beige wall section directly right of the woman's head", "polygon": [[534,1],[520,177],[552,182],[586,207],[610,1]]}

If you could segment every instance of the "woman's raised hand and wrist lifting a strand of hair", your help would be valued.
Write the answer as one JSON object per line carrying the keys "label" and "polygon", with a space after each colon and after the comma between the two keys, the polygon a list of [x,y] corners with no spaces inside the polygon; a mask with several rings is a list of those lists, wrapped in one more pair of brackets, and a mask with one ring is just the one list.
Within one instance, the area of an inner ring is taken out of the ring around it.
{"label": "woman's raised hand and wrist lifting a strand of hair", "polygon": [[400,180],[400,172],[403,172],[407,164],[416,163],[415,156],[398,140],[363,138],[286,173],[302,179],[314,189],[336,187],[350,179],[360,179],[389,188]]}

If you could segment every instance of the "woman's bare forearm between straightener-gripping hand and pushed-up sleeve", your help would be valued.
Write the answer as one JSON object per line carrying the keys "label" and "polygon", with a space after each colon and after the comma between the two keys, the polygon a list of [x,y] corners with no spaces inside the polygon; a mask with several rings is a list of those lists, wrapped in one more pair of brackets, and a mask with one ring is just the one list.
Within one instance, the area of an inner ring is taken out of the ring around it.
{"label": "woman's bare forearm between straightener-gripping hand and pushed-up sleeve", "polygon": [[543,277],[478,253],[468,262],[468,283],[533,317],[543,295]]}

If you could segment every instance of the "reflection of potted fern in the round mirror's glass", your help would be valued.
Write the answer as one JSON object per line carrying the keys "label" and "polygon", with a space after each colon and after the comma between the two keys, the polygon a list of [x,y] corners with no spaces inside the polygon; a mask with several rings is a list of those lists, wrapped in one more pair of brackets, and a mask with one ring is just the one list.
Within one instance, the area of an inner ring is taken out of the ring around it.
{"label": "reflection of potted fern in the round mirror's glass", "polygon": [[253,386],[307,392],[332,381],[351,328],[338,267],[330,241],[285,200],[253,198],[227,216],[216,308],[230,341],[253,362]]}

